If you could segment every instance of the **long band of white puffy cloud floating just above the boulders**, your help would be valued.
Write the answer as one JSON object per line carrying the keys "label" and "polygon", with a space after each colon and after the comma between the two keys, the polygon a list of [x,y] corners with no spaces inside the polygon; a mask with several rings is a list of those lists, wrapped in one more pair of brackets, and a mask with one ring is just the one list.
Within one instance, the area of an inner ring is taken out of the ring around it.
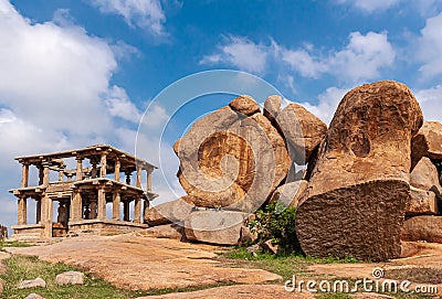
{"label": "long band of white puffy cloud floating just above the boulders", "polygon": [[[318,78],[332,74],[345,84],[360,83],[380,76],[382,68],[394,63],[396,52],[387,32],[351,32],[340,50],[318,53],[312,44],[290,49],[271,41],[257,44],[248,38],[231,36],[218,46],[218,53],[204,56],[201,64],[229,64],[242,71],[263,74],[267,61],[288,67],[303,77]],[[291,84],[293,86],[293,82]]]}

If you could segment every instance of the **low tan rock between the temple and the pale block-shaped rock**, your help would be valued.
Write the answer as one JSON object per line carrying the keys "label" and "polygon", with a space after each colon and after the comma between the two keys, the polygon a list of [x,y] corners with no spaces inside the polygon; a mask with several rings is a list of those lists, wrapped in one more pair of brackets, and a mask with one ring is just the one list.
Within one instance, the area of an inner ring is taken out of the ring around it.
{"label": "low tan rock between the temple and the pale block-shaped rock", "polygon": [[176,201],[161,203],[150,207],[145,214],[145,222],[150,226],[183,222],[192,212],[191,197],[182,196]]}

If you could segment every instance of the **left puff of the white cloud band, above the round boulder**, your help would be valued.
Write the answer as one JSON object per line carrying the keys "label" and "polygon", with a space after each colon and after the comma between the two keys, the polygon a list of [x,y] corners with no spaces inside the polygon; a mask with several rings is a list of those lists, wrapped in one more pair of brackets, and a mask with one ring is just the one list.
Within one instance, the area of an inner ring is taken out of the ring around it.
{"label": "left puff of the white cloud band, above the round boulder", "polygon": [[219,53],[204,56],[201,64],[229,63],[241,71],[264,73],[269,47],[243,36],[224,38],[218,46]]}

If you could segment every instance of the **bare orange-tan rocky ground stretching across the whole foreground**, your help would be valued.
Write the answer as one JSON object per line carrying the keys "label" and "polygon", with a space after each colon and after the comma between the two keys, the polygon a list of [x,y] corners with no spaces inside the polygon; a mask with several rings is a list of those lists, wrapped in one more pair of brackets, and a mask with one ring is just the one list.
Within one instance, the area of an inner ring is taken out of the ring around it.
{"label": "bare orange-tan rocky ground stretching across the whole foreground", "polygon": [[[431,267],[442,270],[442,245],[409,243],[408,248],[410,257],[382,264],[313,264],[306,269],[306,277],[311,279],[317,276],[318,279],[332,280],[372,278],[371,273],[376,267],[385,269],[387,279],[390,278],[389,273],[394,269]],[[302,293],[286,292],[283,279],[278,275],[227,264],[223,258],[219,258],[219,253],[223,249],[225,248],[136,235],[82,237],[45,246],[7,248],[11,254],[39,256],[42,260],[80,267],[120,288],[141,290],[207,288],[144,299],[315,297],[305,290]],[[9,254],[0,253],[0,259],[7,257]],[[303,279],[302,275],[298,279]],[[222,286],[225,284],[233,285]],[[440,296],[442,285],[438,287]],[[379,295],[358,293],[355,297],[376,298]]]}

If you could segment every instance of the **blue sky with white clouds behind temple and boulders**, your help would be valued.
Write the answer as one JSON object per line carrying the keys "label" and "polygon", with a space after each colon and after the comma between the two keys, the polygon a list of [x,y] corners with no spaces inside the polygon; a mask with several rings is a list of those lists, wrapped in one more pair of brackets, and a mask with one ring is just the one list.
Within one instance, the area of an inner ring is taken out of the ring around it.
{"label": "blue sky with white clouds behind temple and boulders", "polygon": [[[15,222],[13,157],[99,142],[134,152],[150,100],[197,72],[249,72],[326,122],[347,90],[391,78],[442,120],[441,12],[441,0],[0,0],[0,223]],[[230,99],[196,100],[169,128]],[[150,106],[144,142],[158,143],[169,113]],[[171,139],[161,167],[179,190]]]}

